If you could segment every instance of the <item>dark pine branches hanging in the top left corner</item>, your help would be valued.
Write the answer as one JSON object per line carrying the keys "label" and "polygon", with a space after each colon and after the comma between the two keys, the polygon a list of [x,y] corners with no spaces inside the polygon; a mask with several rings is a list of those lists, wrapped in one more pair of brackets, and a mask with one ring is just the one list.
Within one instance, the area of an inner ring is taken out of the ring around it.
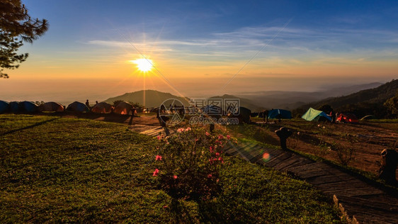
{"label": "dark pine branches hanging in the top left corner", "polygon": [[0,78],[8,78],[4,69],[16,69],[28,57],[16,53],[23,42],[33,43],[47,29],[47,20],[30,18],[21,0],[0,1]]}

